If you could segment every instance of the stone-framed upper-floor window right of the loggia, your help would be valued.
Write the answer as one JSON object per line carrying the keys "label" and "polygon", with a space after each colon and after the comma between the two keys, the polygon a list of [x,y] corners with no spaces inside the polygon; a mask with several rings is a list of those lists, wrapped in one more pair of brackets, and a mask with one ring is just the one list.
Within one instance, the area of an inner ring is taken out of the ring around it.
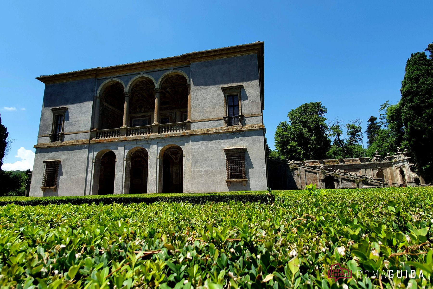
{"label": "stone-framed upper-floor window right of the loggia", "polygon": [[225,97],[226,116],[224,121],[227,126],[242,125],[243,115],[241,107],[241,91],[243,85],[235,85],[221,88]]}

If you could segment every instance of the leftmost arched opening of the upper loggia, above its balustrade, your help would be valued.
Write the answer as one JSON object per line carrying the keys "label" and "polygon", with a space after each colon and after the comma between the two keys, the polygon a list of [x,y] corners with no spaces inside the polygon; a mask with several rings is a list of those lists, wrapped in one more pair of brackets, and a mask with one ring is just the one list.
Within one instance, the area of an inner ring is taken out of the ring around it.
{"label": "leftmost arched opening of the upper loggia, above its balustrade", "polygon": [[120,82],[110,84],[102,93],[100,129],[119,128],[123,124],[124,88]]}

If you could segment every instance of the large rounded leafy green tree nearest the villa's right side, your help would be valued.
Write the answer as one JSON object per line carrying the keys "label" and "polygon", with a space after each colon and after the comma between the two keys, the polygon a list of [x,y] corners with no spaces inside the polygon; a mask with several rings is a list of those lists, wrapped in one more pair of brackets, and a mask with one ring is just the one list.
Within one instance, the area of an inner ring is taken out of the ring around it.
{"label": "large rounded leafy green tree nearest the villa's right side", "polygon": [[330,147],[325,114],[320,101],[302,104],[288,113],[275,132],[275,147],[290,160],[323,159]]}

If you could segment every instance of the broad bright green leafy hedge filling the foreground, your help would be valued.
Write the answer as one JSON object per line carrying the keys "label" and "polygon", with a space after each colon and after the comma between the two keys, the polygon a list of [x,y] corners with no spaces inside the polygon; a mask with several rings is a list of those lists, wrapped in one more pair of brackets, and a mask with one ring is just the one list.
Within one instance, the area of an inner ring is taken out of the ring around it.
{"label": "broad bright green leafy hedge filling the foreground", "polygon": [[[431,286],[432,188],[281,191],[268,200],[8,204],[0,209],[0,286]],[[328,279],[334,263],[352,279]]]}

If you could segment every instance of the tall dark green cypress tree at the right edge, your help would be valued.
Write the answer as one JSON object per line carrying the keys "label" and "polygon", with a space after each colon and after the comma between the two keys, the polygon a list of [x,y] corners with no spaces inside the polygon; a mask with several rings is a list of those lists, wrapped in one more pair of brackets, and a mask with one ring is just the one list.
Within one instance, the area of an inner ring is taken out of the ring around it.
{"label": "tall dark green cypress tree at the right edge", "polygon": [[[432,45],[429,47],[432,48]],[[401,82],[401,99],[393,112],[394,124],[403,125],[403,139],[423,168],[426,178],[432,179],[433,59],[427,58],[424,52],[414,53],[406,62],[405,72]]]}

